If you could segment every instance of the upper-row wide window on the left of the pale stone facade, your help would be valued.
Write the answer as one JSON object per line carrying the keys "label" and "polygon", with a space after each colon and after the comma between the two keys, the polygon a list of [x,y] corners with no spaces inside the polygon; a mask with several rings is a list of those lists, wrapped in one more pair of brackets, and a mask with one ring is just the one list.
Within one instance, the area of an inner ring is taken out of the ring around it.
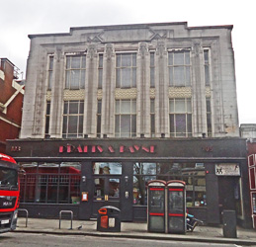
{"label": "upper-row wide window on the left of the pale stone facade", "polygon": [[65,88],[83,89],[85,87],[85,71],[85,55],[67,55],[65,70]]}

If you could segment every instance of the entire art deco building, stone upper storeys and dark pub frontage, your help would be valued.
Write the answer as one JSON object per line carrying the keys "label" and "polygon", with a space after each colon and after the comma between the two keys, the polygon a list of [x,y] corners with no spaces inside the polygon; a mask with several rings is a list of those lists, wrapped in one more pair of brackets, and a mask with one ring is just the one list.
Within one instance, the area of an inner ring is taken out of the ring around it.
{"label": "entire art deco building, stone upper storeys and dark pub frontage", "polygon": [[[181,179],[187,206],[206,222],[236,206],[247,224],[248,205],[220,193],[247,186],[231,31],[160,23],[30,35],[21,139],[9,143],[27,169],[22,204],[78,218],[109,204],[124,220],[144,220],[146,183]],[[238,170],[226,182],[215,166]]]}

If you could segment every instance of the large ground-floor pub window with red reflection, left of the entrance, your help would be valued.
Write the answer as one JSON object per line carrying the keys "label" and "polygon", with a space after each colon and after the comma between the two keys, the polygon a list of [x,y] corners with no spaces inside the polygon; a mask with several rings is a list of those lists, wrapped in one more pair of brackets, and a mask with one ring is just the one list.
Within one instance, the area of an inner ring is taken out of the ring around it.
{"label": "large ground-floor pub window with red reflection, left of the entrance", "polygon": [[80,201],[81,164],[21,163],[21,203],[76,204]]}

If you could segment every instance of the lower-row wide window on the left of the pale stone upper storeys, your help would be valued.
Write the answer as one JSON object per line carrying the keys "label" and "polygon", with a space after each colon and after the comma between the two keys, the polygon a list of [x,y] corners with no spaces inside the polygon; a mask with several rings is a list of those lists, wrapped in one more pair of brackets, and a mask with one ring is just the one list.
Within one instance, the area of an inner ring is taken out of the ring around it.
{"label": "lower-row wide window on the left of the pale stone upper storeys", "polygon": [[83,137],[84,101],[65,101],[63,111],[63,138]]}

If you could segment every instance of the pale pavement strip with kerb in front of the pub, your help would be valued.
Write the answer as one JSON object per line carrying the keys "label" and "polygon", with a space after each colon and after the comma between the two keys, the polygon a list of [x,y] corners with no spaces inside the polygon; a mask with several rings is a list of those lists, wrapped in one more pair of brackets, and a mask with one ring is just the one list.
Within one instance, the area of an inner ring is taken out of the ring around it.
{"label": "pale pavement strip with kerb in front of the pub", "polygon": [[[72,226],[72,227],[71,227]],[[147,231],[146,222],[122,222],[121,232],[97,231],[97,220],[42,219],[19,217],[15,232],[88,235],[97,237],[138,238],[152,240],[194,241],[206,243],[225,243],[243,246],[256,246],[256,230],[236,227],[237,237],[223,236],[222,225],[197,226],[193,232],[186,234],[153,233]]]}

